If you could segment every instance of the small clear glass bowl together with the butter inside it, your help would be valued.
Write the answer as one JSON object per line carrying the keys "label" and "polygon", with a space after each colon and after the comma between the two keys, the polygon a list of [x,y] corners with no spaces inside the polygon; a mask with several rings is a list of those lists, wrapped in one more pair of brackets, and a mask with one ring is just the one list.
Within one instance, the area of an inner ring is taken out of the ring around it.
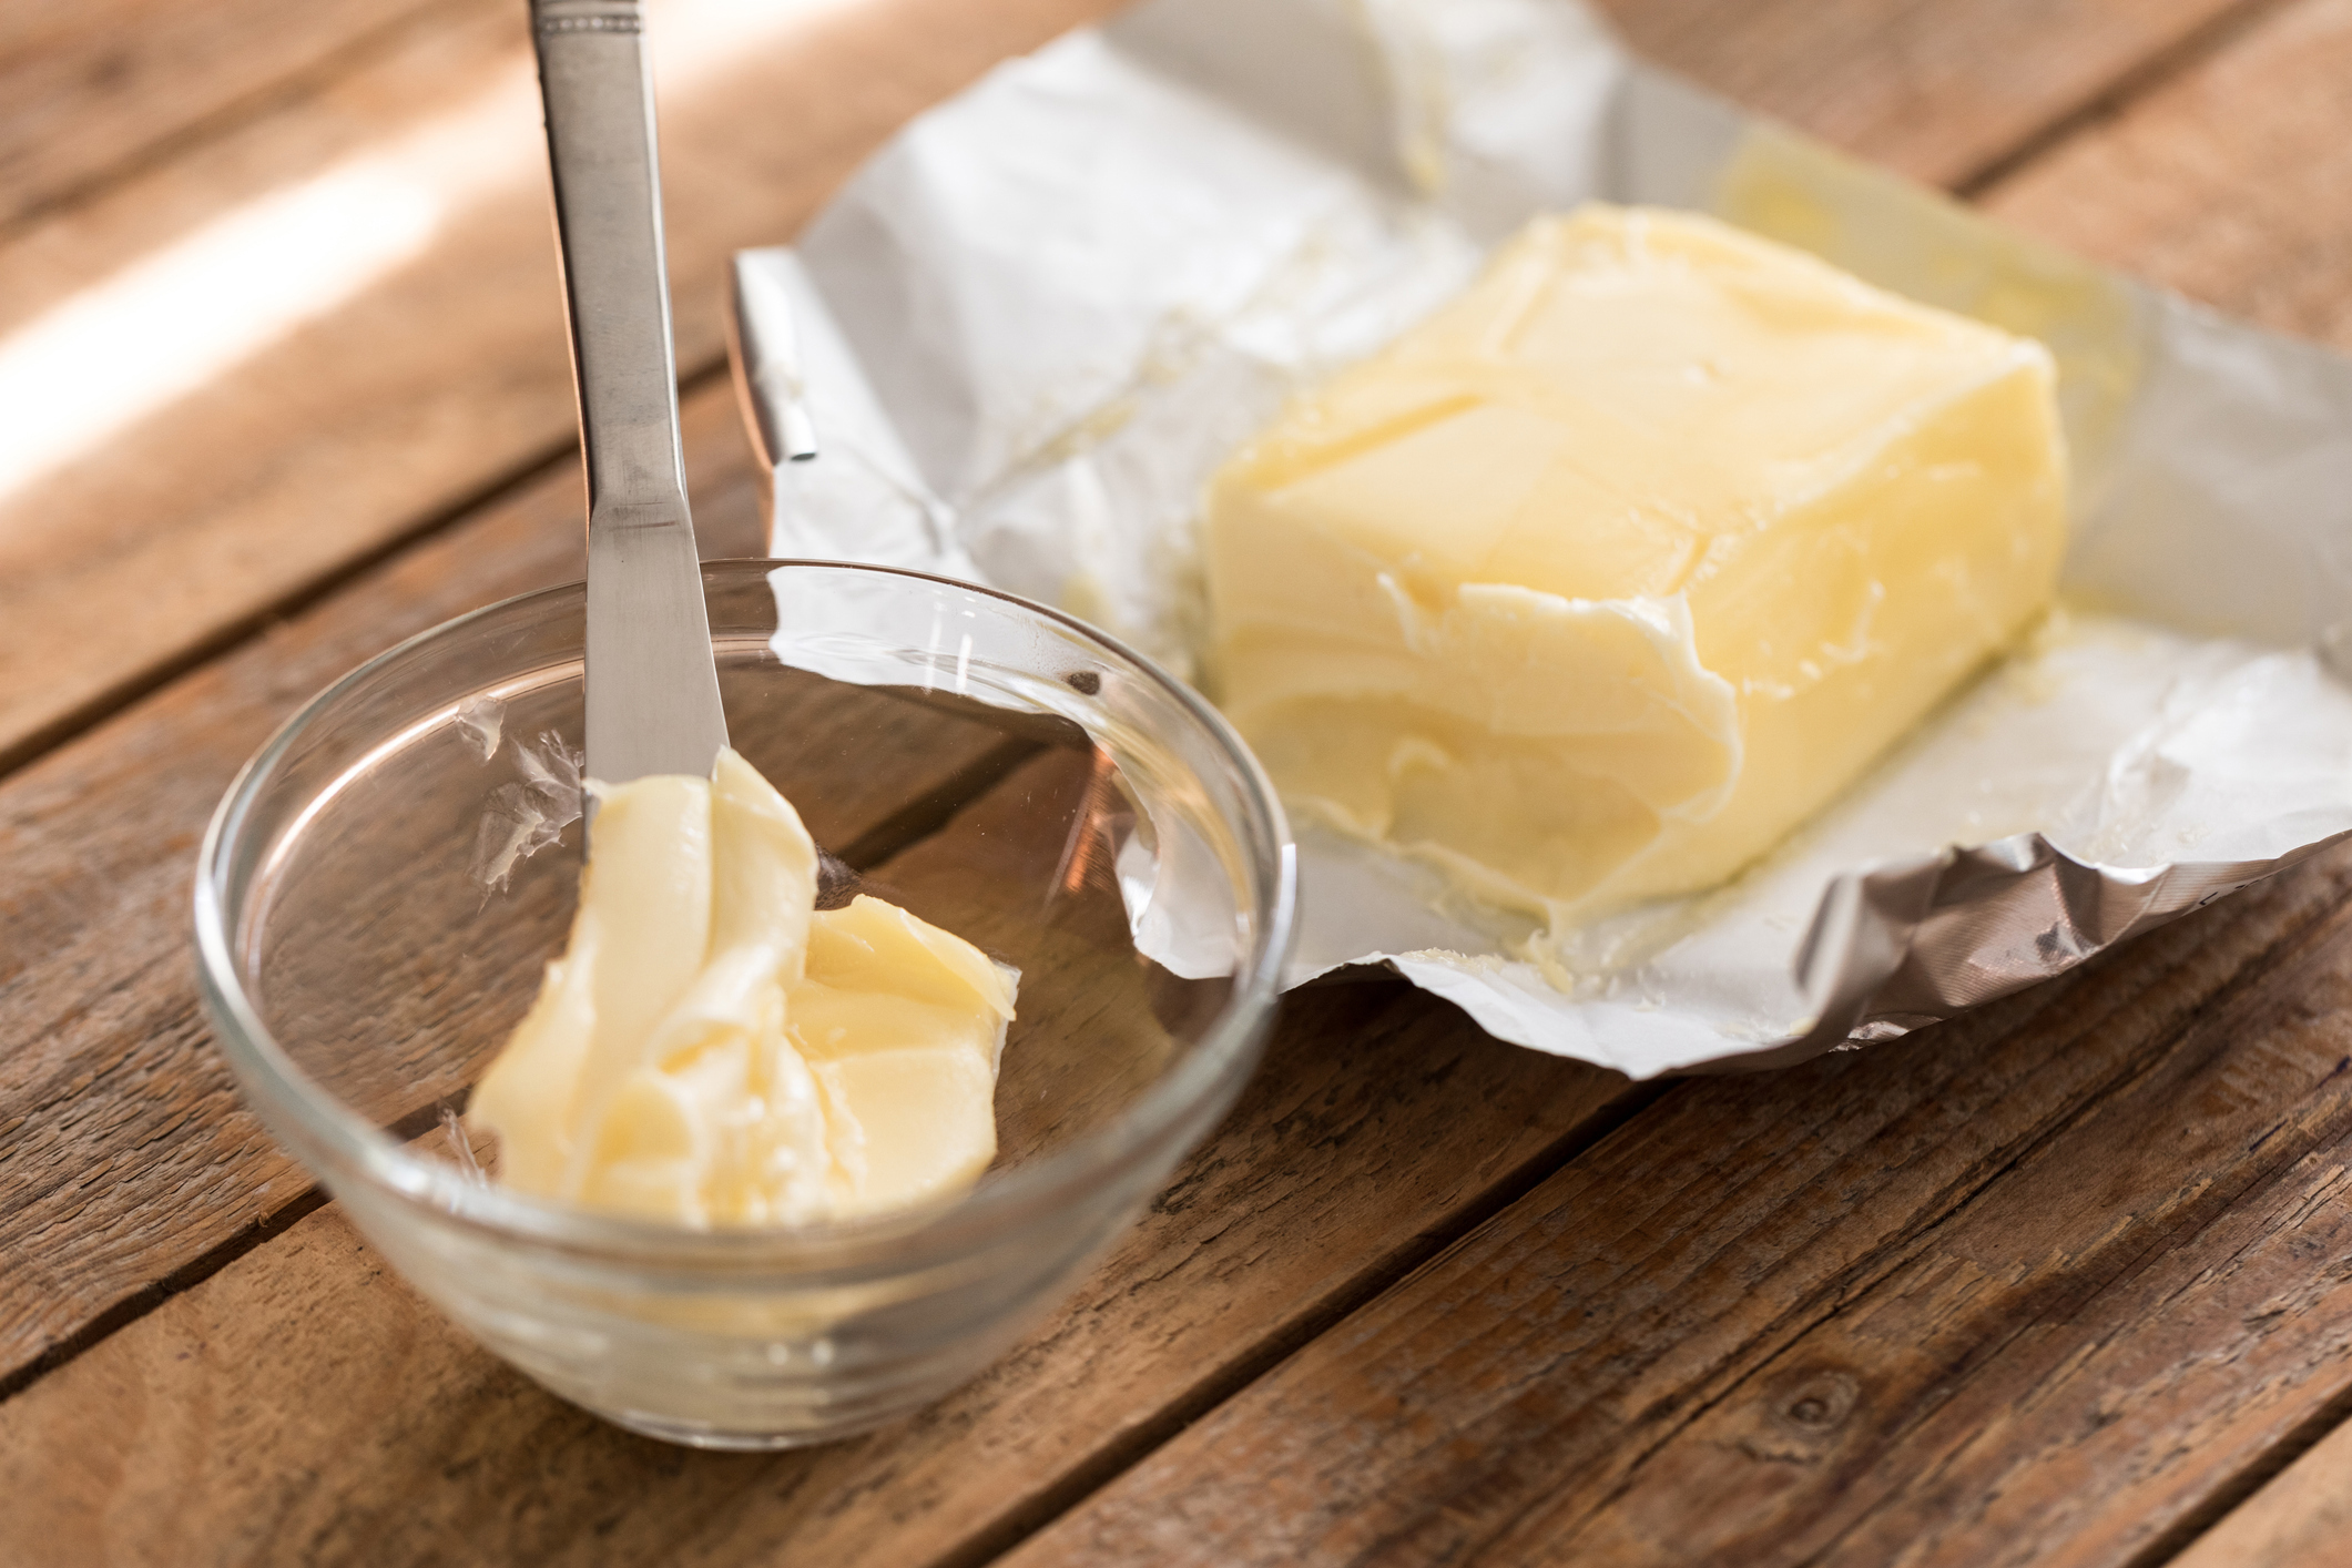
{"label": "small clear glass bowl together with the butter inside it", "polygon": [[978,1373],[1160,1190],[1256,1063],[1291,863],[1230,729],[1065,616],[703,588],[734,750],[609,792],[586,879],[574,583],[303,708],[195,938],[247,1103],[419,1293],[626,1427],[783,1448]]}

